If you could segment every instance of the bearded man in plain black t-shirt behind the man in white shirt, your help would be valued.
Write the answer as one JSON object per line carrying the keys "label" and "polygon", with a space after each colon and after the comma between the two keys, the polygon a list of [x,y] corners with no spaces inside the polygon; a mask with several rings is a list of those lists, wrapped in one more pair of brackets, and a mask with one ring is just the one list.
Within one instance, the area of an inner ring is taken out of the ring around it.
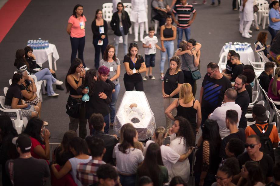
{"label": "bearded man in plain black t-shirt behind the man in white shirt", "polygon": [[237,91],[237,98],[235,100],[235,103],[238,104],[242,110],[238,128],[243,129],[247,127],[247,119],[245,117],[245,114],[250,102],[249,94],[245,88],[246,82],[247,77],[241,74],[236,77],[234,83],[234,89]]}

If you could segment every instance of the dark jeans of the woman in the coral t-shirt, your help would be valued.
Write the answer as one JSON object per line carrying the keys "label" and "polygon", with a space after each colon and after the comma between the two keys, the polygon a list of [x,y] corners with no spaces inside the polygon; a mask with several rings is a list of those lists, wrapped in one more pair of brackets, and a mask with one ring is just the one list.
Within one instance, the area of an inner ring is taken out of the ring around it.
{"label": "dark jeans of the woman in the coral t-shirt", "polygon": [[84,48],[86,43],[86,36],[76,38],[76,37],[70,37],[71,47],[72,47],[72,53],[71,53],[71,63],[76,58],[77,50],[79,52],[78,58],[82,60],[83,66],[86,67],[86,64],[84,63]]}

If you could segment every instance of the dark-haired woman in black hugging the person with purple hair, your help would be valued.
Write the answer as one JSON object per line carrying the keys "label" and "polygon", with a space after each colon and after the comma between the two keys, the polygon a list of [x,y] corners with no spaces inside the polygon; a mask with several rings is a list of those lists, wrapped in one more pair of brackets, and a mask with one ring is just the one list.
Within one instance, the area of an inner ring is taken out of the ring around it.
{"label": "dark-haired woman in black hugging the person with purple hair", "polygon": [[[86,86],[88,86],[89,89],[87,89]],[[100,98],[99,93],[113,89],[115,89],[115,84],[110,79],[107,79],[106,82],[97,81],[97,74],[94,69],[90,69],[86,72],[85,81],[77,89],[79,95],[89,95],[89,101],[86,102],[86,119],[89,119],[93,113],[100,113],[104,117],[111,112],[106,100]],[[93,130],[90,125],[89,130],[90,134],[92,134]]]}

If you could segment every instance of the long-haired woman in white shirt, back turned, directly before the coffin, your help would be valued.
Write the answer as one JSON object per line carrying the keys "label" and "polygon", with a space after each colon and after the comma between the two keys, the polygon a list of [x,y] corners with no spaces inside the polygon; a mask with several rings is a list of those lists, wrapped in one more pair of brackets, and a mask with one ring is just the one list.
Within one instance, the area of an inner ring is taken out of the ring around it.
{"label": "long-haired woman in white shirt, back turned, directly before the coffin", "polygon": [[134,143],[137,141],[137,130],[134,127],[128,127],[124,130],[123,142],[114,147],[113,158],[116,158],[116,167],[122,186],[135,186],[137,167],[144,160],[142,151],[135,148]]}

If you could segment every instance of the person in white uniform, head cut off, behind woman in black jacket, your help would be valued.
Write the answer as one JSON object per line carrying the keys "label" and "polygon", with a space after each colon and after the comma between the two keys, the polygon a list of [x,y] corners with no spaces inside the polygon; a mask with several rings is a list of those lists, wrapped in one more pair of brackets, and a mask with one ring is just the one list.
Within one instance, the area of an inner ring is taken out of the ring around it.
{"label": "person in white uniform, head cut off, behind woman in black jacket", "polygon": [[147,0],[131,0],[132,10],[130,21],[134,22],[134,41],[138,41],[138,30],[140,25],[140,41],[144,39],[145,22],[148,21],[146,8],[148,8]]}

